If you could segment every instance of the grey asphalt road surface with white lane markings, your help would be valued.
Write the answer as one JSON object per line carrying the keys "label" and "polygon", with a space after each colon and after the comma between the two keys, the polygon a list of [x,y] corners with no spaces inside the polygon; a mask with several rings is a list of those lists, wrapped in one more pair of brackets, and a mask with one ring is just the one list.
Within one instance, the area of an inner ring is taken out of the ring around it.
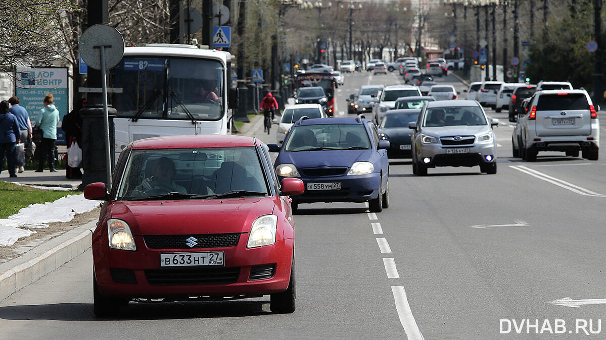
{"label": "grey asphalt road surface with white lane markings", "polygon": [[[360,85],[396,75],[346,74],[336,113]],[[502,123],[496,175],[476,166],[416,177],[410,160],[396,160],[380,214],[361,203],[299,206],[291,315],[272,315],[266,297],[131,303],[95,319],[89,250],[0,301],[0,338],[604,338],[606,155],[513,159],[507,113],[487,113]],[[275,129],[258,128],[275,142]]]}

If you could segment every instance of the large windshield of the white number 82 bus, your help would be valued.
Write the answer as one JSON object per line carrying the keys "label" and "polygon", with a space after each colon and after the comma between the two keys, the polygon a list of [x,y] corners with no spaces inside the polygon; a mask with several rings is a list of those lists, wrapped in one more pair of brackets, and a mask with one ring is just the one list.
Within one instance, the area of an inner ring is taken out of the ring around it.
{"label": "large windshield of the white number 82 bus", "polygon": [[118,117],[219,120],[224,109],[225,68],[210,59],[125,56],[110,71]]}

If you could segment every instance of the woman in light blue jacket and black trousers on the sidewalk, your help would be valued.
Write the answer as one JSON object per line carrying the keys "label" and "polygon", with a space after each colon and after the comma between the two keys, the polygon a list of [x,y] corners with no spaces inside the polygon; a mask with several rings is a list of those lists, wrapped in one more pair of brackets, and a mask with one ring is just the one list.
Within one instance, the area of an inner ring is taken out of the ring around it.
{"label": "woman in light blue jacket and black trousers on the sidewalk", "polygon": [[59,122],[59,110],[53,105],[53,95],[47,94],[44,97],[44,108],[36,120],[36,128],[42,129],[42,150],[38,159],[38,170],[44,170],[44,158],[48,160],[50,172],[55,170],[55,141],[57,140],[57,123]]}

